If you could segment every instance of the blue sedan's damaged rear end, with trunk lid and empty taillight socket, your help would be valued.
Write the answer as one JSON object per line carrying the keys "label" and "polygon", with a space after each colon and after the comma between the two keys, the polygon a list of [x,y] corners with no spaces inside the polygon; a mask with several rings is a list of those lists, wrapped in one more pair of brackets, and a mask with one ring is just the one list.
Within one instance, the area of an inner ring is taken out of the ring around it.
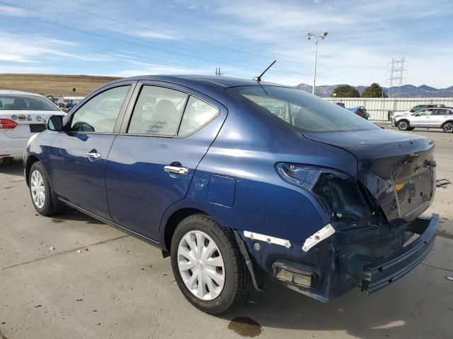
{"label": "blue sedan's damaged rear end, with trunk lid and empty taillight socket", "polygon": [[401,140],[381,142],[377,150],[369,141],[341,145],[340,136],[307,138],[350,151],[357,157],[357,177],[312,165],[276,165],[282,179],[309,191],[331,219],[305,239],[304,267],[275,263],[275,277],[327,301],[355,286],[365,294],[377,291],[423,261],[438,227],[437,215],[419,217],[435,196],[434,145],[398,136]]}

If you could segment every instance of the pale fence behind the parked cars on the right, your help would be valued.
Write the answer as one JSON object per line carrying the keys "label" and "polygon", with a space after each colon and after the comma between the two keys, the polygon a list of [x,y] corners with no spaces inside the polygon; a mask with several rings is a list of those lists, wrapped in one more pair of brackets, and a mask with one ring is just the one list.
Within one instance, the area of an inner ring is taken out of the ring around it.
{"label": "pale fence behind the parked cars on the right", "polygon": [[363,106],[370,120],[389,121],[389,111],[403,112],[416,105],[441,104],[453,107],[453,97],[325,97],[330,102],[342,102],[346,108]]}

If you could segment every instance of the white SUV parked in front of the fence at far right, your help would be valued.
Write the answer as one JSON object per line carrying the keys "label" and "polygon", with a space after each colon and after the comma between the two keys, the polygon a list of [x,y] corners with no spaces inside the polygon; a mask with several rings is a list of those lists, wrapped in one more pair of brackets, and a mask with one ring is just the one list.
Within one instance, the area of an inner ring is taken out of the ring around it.
{"label": "white SUV parked in front of the fence at far right", "polygon": [[430,127],[453,132],[453,108],[435,107],[423,109],[411,115],[394,117],[392,122],[400,131],[412,131],[415,127]]}

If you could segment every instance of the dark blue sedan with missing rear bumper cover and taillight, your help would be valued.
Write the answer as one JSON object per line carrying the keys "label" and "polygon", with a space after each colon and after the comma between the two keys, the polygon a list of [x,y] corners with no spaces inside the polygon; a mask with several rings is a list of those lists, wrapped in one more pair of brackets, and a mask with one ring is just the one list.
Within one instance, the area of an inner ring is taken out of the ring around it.
{"label": "dark blue sedan with missing rear bumper cover and taillight", "polygon": [[327,302],[408,273],[437,232],[419,217],[433,154],[302,90],[141,76],[51,117],[24,170],[38,213],[70,206],[159,247],[188,301],[220,314],[269,280]]}

